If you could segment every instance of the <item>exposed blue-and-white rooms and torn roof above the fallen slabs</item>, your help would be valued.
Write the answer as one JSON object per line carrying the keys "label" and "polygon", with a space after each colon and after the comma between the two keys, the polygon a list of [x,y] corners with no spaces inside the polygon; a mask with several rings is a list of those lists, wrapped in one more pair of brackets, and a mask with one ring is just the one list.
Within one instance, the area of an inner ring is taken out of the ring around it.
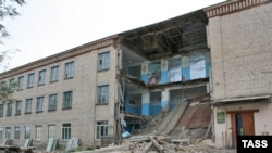
{"label": "exposed blue-and-white rooms and torn roof above the fallen slabs", "polygon": [[210,50],[203,11],[120,34],[120,101],[127,130],[209,92]]}

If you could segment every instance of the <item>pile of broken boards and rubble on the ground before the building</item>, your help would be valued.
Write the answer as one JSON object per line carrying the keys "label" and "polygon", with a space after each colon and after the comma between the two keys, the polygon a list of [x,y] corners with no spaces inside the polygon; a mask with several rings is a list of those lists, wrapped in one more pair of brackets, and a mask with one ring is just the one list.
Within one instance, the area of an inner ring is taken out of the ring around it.
{"label": "pile of broken boards and rubble on the ground before the building", "polygon": [[137,136],[124,139],[121,145],[88,151],[85,153],[236,153],[234,149],[215,149],[211,140],[173,139],[165,136]]}

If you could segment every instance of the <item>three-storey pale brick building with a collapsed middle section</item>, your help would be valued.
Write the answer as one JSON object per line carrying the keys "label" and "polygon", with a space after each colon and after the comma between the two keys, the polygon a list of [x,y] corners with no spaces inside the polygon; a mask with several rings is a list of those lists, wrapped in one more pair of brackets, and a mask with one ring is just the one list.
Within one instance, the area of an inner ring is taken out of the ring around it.
{"label": "three-storey pale brick building with a collapsed middle section", "polygon": [[[271,29],[269,11],[269,0],[226,1],[4,72],[1,87],[9,87],[15,101],[0,104],[0,140],[22,145],[32,138],[39,146],[51,138],[60,145],[77,138],[82,145],[101,145],[103,137],[148,129],[163,114],[157,133],[168,135],[176,126],[209,128],[219,148],[235,148],[237,131],[246,127],[254,127],[250,135],[269,133],[271,125],[252,122],[252,116],[265,116],[271,105],[270,84],[265,79],[265,89],[258,86],[261,78],[255,74],[271,64],[265,59],[271,30],[260,31],[263,46],[248,49],[260,34],[251,34],[256,26],[244,29],[248,21],[257,25],[251,16],[267,18],[262,25]],[[237,40],[249,31],[249,41]],[[259,53],[264,64],[258,66],[249,61],[260,60]],[[243,67],[239,58],[250,66]],[[260,74],[270,76],[270,66],[265,68]],[[201,104],[190,107],[196,103]],[[251,116],[251,125],[242,126],[244,115]]]}

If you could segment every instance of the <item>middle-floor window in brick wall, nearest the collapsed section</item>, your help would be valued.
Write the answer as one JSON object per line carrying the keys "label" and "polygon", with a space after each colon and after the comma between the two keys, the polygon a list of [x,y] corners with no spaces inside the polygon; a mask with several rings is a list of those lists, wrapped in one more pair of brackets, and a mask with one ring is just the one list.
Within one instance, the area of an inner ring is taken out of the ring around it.
{"label": "middle-floor window in brick wall, nearest the collapsed section", "polygon": [[97,103],[108,104],[109,103],[109,85],[98,86],[97,88]]}

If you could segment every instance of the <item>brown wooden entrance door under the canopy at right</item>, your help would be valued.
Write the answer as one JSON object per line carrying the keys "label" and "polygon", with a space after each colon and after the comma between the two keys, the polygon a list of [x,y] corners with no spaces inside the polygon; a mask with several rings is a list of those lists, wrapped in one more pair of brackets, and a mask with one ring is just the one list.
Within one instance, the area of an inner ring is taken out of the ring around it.
{"label": "brown wooden entrance door under the canopy at right", "polygon": [[254,112],[235,112],[231,118],[233,146],[236,148],[237,136],[255,135]]}

